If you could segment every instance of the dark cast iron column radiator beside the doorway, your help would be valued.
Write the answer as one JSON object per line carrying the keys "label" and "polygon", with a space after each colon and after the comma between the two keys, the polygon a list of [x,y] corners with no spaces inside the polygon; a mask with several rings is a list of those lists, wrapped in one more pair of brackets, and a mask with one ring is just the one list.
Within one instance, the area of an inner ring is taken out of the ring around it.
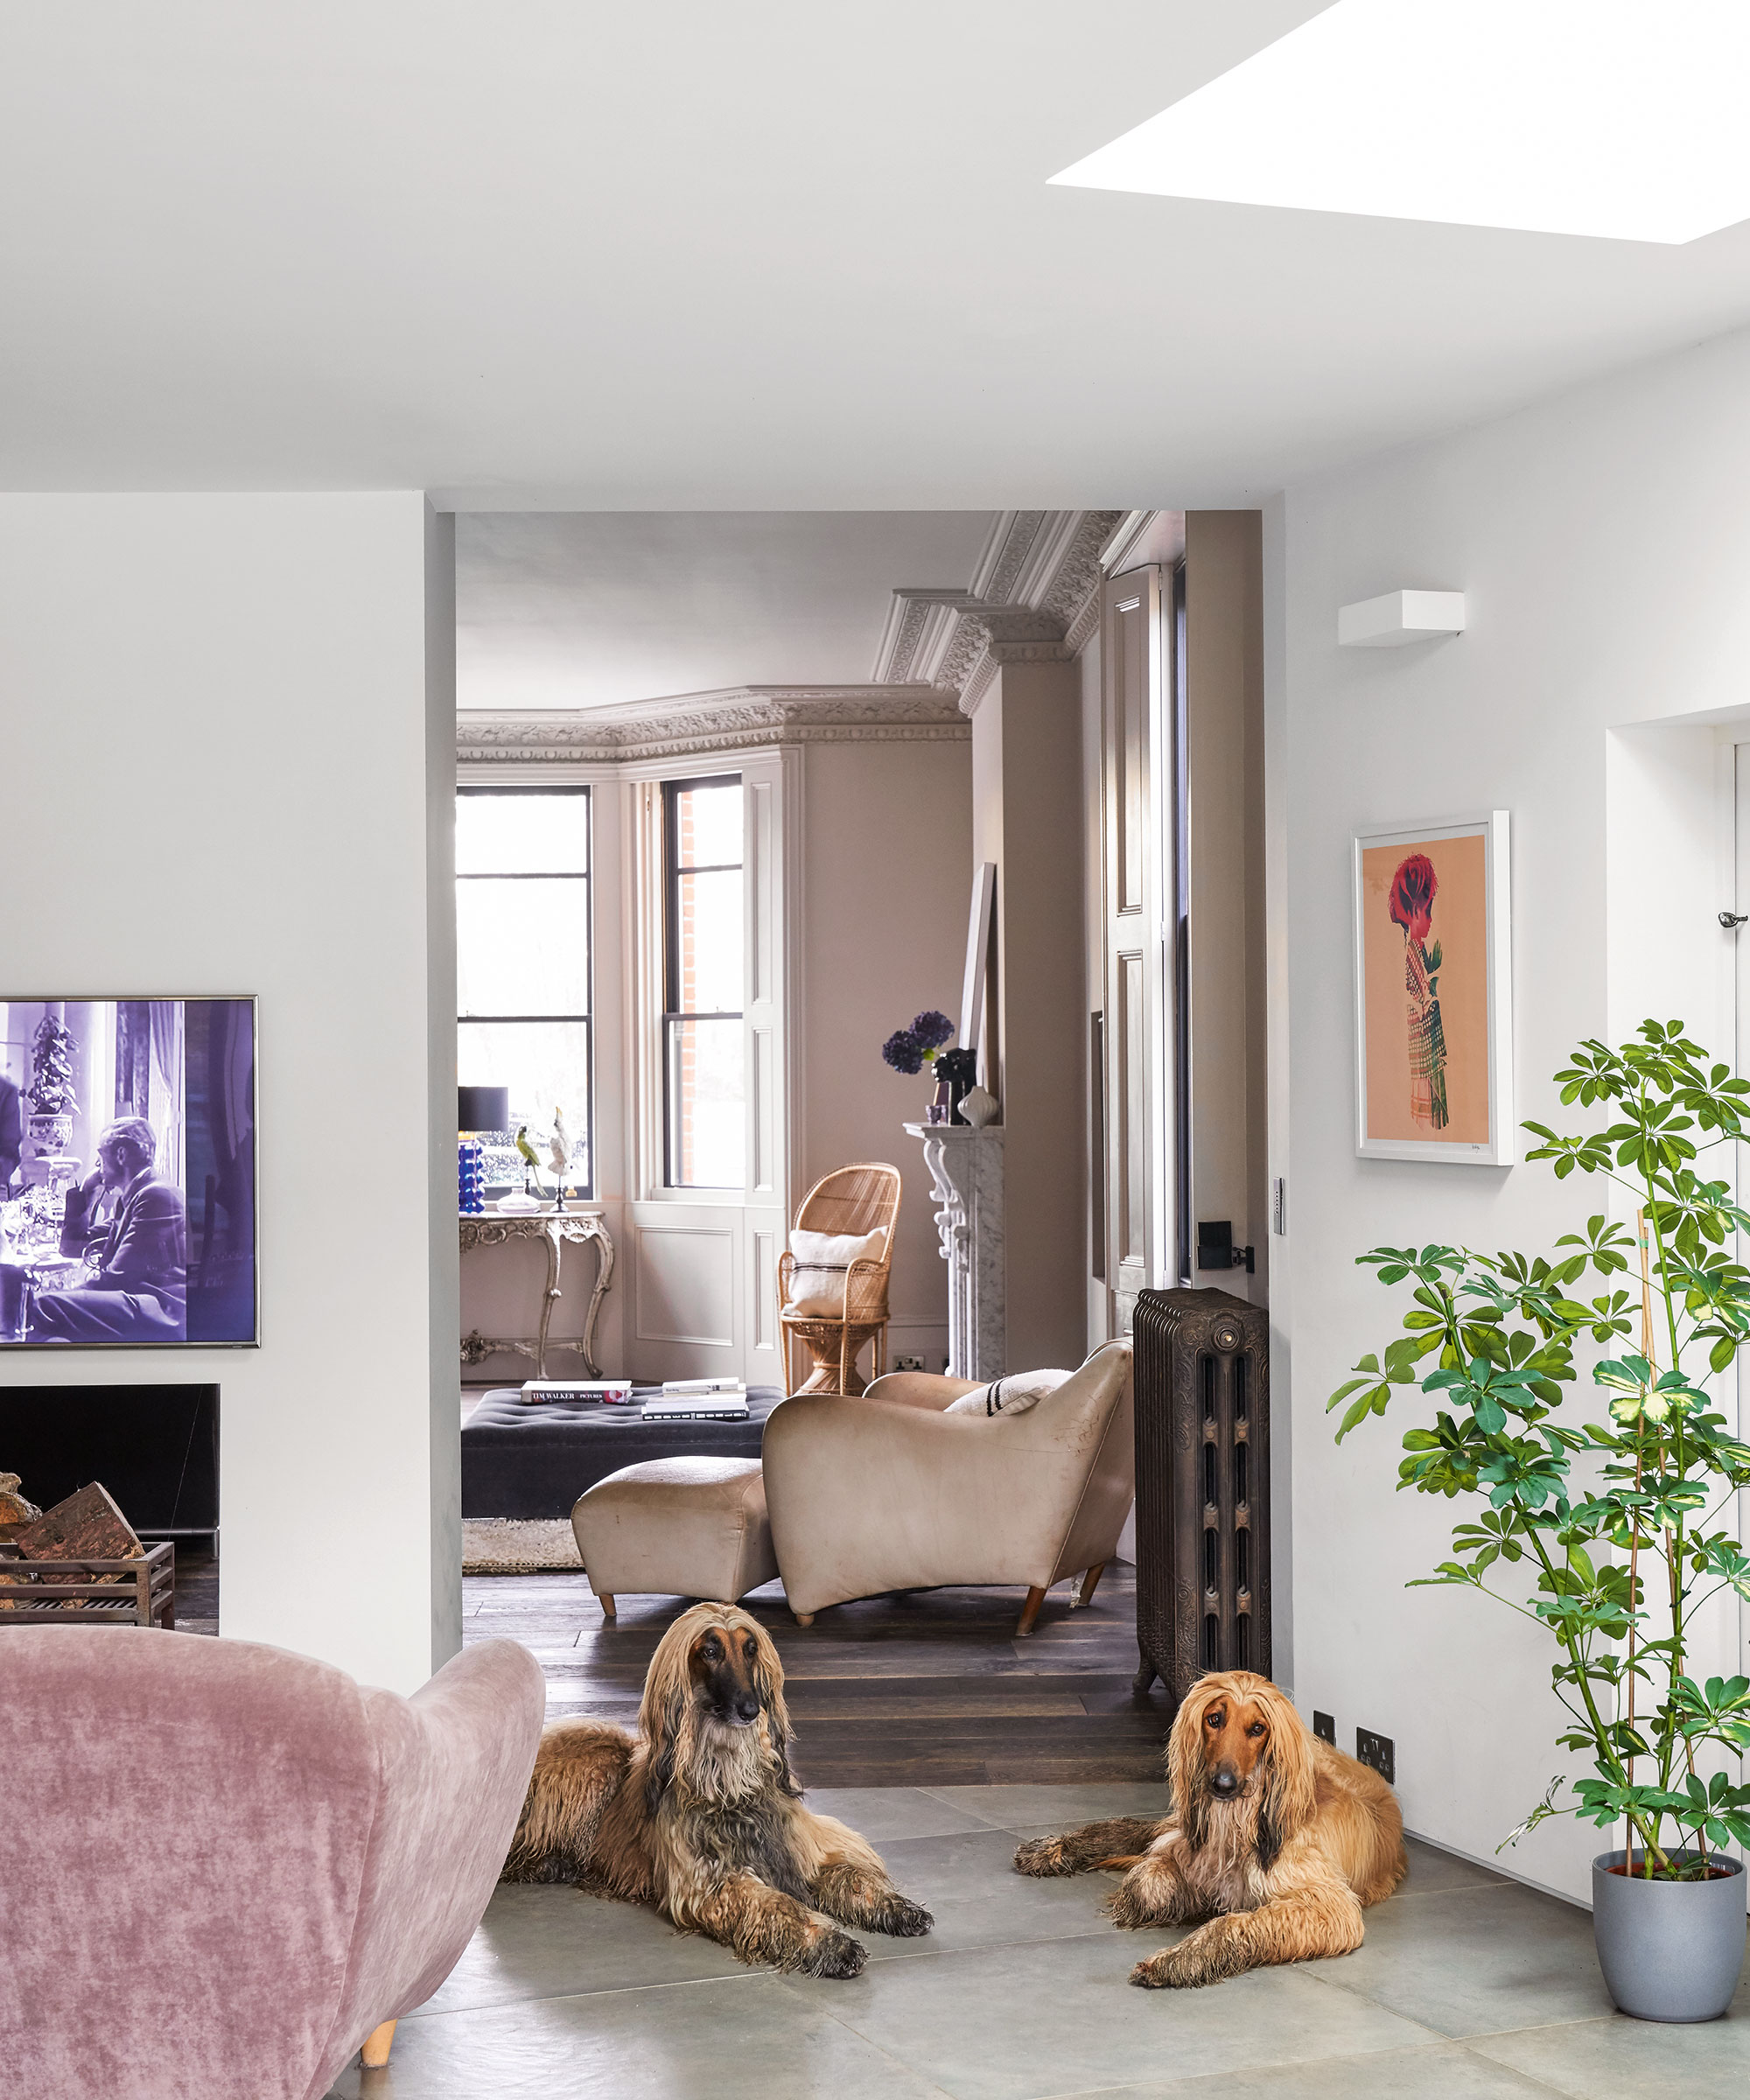
{"label": "dark cast iron column radiator beside the doorway", "polygon": [[1269,1312],[1229,1292],[1137,1298],[1137,1690],[1271,1674]]}

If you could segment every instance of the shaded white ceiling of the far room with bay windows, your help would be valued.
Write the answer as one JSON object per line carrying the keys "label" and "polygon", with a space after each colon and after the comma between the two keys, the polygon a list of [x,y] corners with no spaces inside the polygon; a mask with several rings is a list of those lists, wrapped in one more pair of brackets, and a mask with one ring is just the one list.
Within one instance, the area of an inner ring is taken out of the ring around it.
{"label": "shaded white ceiling of the far room with bay windows", "polygon": [[964,590],[989,510],[456,519],[460,708],[861,685],[897,584]]}

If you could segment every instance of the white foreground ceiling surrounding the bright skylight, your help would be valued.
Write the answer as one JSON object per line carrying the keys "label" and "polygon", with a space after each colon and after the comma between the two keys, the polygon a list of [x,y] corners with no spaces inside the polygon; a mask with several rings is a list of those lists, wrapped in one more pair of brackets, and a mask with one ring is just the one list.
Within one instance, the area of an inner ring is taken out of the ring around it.
{"label": "white foreground ceiling surrounding the bright skylight", "polygon": [[1313,13],[6,0],[0,485],[1250,502],[1750,319],[1744,227],[1046,187]]}

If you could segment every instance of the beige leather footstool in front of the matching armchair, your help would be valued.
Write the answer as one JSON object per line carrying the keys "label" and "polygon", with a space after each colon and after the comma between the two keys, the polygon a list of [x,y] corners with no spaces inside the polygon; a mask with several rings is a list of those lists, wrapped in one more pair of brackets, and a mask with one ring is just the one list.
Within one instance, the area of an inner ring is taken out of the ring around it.
{"label": "beige leather footstool in front of the matching armchair", "polygon": [[620,1594],[733,1604],[777,1575],[756,1457],[622,1466],[578,1497],[571,1531],[609,1619]]}

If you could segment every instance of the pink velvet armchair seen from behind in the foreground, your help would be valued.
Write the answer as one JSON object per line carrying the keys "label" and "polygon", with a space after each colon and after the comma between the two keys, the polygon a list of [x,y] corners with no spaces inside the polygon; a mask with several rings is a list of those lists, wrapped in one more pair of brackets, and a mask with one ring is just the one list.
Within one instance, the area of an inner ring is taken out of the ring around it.
{"label": "pink velvet armchair seen from behind in the foreground", "polygon": [[242,1640],[0,1630],[8,2090],[321,2100],[380,2060],[485,1911],[542,1712],[508,1640],[399,1699]]}

